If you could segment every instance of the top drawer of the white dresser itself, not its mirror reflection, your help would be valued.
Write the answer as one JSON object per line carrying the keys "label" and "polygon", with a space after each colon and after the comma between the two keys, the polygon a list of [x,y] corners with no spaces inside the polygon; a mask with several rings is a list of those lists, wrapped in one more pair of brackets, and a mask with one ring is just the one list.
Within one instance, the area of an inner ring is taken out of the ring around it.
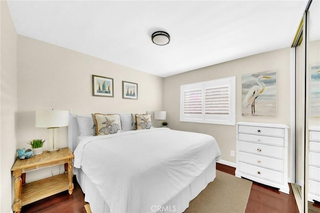
{"label": "top drawer of the white dresser itself, not its mirror reflection", "polygon": [[277,137],[284,136],[284,130],[282,128],[239,125],[238,131],[242,133],[269,135]]}

